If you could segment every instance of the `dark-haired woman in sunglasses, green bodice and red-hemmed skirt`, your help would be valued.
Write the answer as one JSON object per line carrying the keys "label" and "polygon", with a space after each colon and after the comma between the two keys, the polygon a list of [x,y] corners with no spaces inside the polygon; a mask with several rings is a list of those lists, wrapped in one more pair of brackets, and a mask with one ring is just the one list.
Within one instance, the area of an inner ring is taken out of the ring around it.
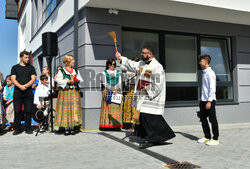
{"label": "dark-haired woman in sunglasses, green bodice and red-hemmed skirt", "polygon": [[102,104],[100,112],[100,130],[120,130],[122,127],[121,104],[109,103],[107,98],[109,91],[114,95],[121,91],[120,71],[115,70],[116,62],[109,58],[106,62],[106,70],[102,74]]}

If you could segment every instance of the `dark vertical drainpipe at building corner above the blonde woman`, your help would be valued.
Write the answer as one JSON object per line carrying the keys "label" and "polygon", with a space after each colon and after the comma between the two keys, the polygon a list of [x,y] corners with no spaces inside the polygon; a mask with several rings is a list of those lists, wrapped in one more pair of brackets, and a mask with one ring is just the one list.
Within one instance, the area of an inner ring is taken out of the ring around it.
{"label": "dark vertical drainpipe at building corner above the blonde woman", "polygon": [[78,68],[78,0],[74,0],[74,58],[75,68]]}

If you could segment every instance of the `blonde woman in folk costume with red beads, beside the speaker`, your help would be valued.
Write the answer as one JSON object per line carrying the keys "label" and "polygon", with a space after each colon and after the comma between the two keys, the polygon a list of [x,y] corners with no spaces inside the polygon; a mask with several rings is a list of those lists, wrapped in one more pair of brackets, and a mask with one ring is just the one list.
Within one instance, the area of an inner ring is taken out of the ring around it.
{"label": "blonde woman in folk costume with red beads, beside the speaker", "polygon": [[63,59],[65,67],[56,78],[59,92],[57,97],[55,126],[64,127],[65,135],[75,134],[74,127],[82,124],[82,109],[79,83],[83,81],[79,71],[74,69],[72,55]]}

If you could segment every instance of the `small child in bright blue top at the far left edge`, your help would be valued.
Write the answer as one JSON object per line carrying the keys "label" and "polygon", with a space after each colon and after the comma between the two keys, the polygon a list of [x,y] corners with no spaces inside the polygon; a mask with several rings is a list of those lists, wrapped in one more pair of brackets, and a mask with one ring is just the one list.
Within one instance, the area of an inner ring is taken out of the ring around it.
{"label": "small child in bright blue top at the far left edge", "polygon": [[7,85],[4,87],[3,91],[3,99],[6,101],[6,110],[5,110],[5,118],[3,120],[2,127],[5,127],[6,122],[10,123],[10,127],[8,130],[13,129],[14,125],[14,106],[13,106],[13,95],[14,95],[14,88],[10,76],[6,77]]}

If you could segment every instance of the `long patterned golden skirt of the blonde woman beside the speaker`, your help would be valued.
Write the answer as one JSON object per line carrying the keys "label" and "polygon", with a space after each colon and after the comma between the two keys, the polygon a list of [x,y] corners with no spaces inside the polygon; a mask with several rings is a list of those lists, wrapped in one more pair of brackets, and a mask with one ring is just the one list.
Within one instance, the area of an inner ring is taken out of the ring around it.
{"label": "long patterned golden skirt of the blonde woman beside the speaker", "polygon": [[74,127],[82,124],[81,96],[77,90],[60,90],[57,97],[55,126]]}

